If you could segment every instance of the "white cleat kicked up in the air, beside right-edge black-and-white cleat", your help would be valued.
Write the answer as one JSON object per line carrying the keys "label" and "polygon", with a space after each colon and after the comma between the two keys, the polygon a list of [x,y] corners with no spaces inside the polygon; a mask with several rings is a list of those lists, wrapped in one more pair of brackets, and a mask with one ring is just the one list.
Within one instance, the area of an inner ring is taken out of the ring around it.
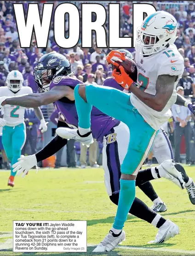
{"label": "white cleat kicked up in the air, beside right-edge black-and-white cleat", "polygon": [[185,182],[182,177],[182,173],[178,172],[178,170],[175,168],[175,163],[172,162],[172,159],[166,160],[162,162],[157,169],[159,170],[159,174],[161,177],[164,177],[166,179],[169,179],[180,189],[184,189]]}

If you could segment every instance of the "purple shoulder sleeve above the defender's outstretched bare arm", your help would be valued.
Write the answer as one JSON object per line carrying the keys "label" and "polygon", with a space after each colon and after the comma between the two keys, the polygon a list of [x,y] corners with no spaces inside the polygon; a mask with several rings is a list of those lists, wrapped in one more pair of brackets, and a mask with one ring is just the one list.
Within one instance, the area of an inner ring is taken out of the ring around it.
{"label": "purple shoulder sleeve above the defender's outstretched bare arm", "polygon": [[75,88],[77,84],[83,83],[77,78],[72,77],[55,77],[50,84],[50,89],[52,89],[55,86],[63,85],[63,86],[70,86],[72,88]]}

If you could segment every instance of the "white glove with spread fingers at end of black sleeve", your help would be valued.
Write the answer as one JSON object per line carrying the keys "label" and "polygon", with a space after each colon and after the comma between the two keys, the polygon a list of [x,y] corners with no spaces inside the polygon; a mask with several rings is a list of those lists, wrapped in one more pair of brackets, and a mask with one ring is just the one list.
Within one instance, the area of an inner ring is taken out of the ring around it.
{"label": "white glove with spread fingers at end of black sleeve", "polygon": [[17,176],[20,175],[21,173],[23,173],[22,177],[24,178],[26,173],[34,166],[36,166],[36,168],[38,170],[35,154],[22,156],[22,157],[18,158],[17,160],[18,160],[18,162],[12,165],[12,167],[14,168],[13,172],[15,173],[18,171]]}

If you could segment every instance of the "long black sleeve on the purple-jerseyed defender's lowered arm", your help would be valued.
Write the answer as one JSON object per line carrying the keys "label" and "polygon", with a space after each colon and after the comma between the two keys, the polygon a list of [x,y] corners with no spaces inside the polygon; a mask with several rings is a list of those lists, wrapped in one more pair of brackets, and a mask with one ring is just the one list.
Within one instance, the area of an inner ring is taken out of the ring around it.
{"label": "long black sleeve on the purple-jerseyed defender's lowered arm", "polygon": [[[69,127],[62,121],[57,122],[58,127]],[[46,159],[47,157],[54,155],[58,150],[62,149],[67,144],[67,139],[63,139],[60,136],[54,137],[43,149],[35,154],[37,162]]]}

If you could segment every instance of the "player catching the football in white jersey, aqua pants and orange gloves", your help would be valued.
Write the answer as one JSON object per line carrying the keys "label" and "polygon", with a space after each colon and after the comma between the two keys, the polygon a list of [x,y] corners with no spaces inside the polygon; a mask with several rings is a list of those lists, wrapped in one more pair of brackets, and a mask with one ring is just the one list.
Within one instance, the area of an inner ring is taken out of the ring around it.
{"label": "player catching the football in white jersey, aqua pants and orange gloves", "polygon": [[[124,60],[124,54],[111,51],[107,56],[109,64],[120,68],[120,72],[113,71],[113,77],[125,89],[130,89],[131,95],[108,87],[79,84],[74,90],[79,128],[61,128],[56,131],[63,138],[74,137],[86,144],[93,143],[90,133],[92,106],[119,119],[130,129],[128,151],[121,165],[115,222],[94,252],[113,250],[125,239],[122,228],[135,198],[136,175],[161,125],[170,118],[170,108],[177,100],[176,85],[184,72],[184,59],[174,45],[177,26],[176,19],[167,12],[155,12],[145,18],[136,40],[137,86],[133,85],[132,78],[124,68],[115,60],[112,61],[113,57]],[[178,232],[178,227],[170,226],[172,236]]]}

